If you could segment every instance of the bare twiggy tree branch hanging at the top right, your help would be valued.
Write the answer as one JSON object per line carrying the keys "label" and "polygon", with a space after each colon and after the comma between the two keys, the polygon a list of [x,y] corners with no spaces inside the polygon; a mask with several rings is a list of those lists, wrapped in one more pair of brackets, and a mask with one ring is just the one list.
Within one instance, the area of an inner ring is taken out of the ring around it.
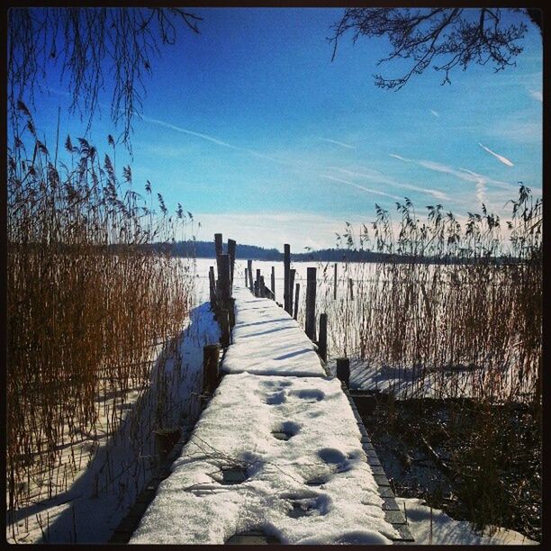
{"label": "bare twiggy tree branch hanging at the top right", "polygon": [[[465,70],[471,63],[490,62],[499,71],[515,64],[514,58],[522,51],[517,42],[527,32],[525,23],[510,23],[503,12],[500,8],[348,8],[332,27],[332,59],[339,39],[352,31],[354,43],[360,36],[385,36],[390,41],[391,53],[377,65],[393,59],[411,60],[402,77],[375,75],[375,85],[382,88],[399,90],[430,65],[444,72],[442,84],[450,83],[450,71],[457,66]],[[541,18],[538,23],[537,14],[528,14],[529,10],[514,8],[505,12],[529,15],[541,30]]]}

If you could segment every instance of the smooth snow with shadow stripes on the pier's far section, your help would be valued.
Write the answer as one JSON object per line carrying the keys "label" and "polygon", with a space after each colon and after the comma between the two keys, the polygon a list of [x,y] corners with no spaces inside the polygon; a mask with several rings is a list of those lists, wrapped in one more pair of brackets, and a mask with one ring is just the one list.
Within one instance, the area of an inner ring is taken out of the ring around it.
{"label": "smooth snow with shadow stripes on the pier's far section", "polygon": [[236,323],[224,373],[324,376],[312,340],[283,308],[255,298],[248,289],[233,291]]}

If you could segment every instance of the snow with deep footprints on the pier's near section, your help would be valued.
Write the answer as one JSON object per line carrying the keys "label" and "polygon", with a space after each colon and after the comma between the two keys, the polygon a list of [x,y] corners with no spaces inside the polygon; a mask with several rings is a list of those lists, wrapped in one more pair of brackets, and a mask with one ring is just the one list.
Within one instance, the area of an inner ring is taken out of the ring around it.
{"label": "snow with deep footprints on the pier's near section", "polygon": [[[391,543],[360,438],[336,379],[226,375],[131,543],[223,544],[248,530],[285,544]],[[230,465],[247,479],[224,484]]]}

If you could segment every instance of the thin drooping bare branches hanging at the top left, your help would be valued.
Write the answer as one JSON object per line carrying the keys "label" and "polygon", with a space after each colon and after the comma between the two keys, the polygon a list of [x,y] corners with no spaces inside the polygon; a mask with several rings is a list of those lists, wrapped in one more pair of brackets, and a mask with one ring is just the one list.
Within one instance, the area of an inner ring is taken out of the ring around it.
{"label": "thin drooping bare branches hanging at the top left", "polygon": [[8,14],[8,102],[34,104],[36,87],[60,65],[70,111],[89,130],[100,92],[112,86],[111,117],[119,140],[131,150],[132,120],[146,93],[151,59],[160,45],[174,45],[182,23],[198,33],[201,17],[183,8],[12,8]]}

